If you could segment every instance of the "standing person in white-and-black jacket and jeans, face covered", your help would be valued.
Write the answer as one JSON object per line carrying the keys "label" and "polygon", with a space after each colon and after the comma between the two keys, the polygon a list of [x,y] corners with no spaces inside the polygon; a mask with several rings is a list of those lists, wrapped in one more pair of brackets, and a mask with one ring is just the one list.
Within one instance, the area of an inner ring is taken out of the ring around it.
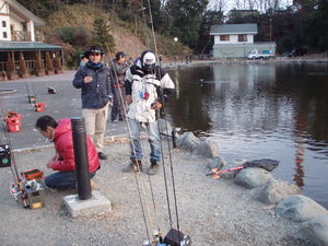
{"label": "standing person in white-and-black jacket and jeans, face covered", "polygon": [[151,148],[151,165],[148,173],[153,175],[159,169],[162,155],[156,110],[160,110],[163,103],[174,92],[175,85],[168,73],[156,66],[156,57],[150,50],[143,51],[140,59],[128,69],[125,85],[126,102],[129,105],[127,118],[131,130],[131,163],[122,172],[142,171],[143,153],[140,143],[140,130],[141,126],[145,126]]}

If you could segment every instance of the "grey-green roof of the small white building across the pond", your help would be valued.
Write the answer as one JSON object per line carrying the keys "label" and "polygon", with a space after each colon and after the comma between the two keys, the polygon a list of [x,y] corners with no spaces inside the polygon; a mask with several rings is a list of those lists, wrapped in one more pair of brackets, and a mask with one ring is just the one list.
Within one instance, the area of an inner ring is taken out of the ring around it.
{"label": "grey-green roof of the small white building across the pond", "polygon": [[216,34],[257,34],[257,24],[212,25],[210,35]]}

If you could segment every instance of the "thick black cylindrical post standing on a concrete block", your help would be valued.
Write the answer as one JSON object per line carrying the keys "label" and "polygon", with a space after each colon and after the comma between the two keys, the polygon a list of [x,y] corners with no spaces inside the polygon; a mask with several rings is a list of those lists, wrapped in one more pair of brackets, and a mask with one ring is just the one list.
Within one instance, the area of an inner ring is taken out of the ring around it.
{"label": "thick black cylindrical post standing on a concrete block", "polygon": [[89,175],[87,145],[84,118],[71,118],[73,148],[78,179],[78,195],[80,200],[91,198],[91,185]]}

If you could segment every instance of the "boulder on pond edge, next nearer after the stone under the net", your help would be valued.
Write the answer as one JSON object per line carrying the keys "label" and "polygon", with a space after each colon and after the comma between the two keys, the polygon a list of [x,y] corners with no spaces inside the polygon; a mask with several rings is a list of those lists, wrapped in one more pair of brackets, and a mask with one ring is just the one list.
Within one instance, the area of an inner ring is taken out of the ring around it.
{"label": "boulder on pond edge, next nearer after the stone under the net", "polygon": [[278,204],[281,200],[291,195],[298,195],[302,190],[298,186],[283,180],[272,178],[260,188],[256,199],[267,204]]}

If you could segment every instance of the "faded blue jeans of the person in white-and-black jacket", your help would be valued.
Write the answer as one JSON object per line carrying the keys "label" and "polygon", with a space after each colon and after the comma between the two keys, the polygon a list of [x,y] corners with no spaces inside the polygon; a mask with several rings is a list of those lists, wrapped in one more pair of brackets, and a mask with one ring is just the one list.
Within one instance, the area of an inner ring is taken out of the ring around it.
{"label": "faded blue jeans of the person in white-and-black jacket", "polygon": [[[138,122],[136,119],[129,119],[128,122],[131,129],[131,136],[130,136],[131,160],[141,161],[143,157],[142,148],[140,143],[141,122]],[[147,122],[145,126],[147,126],[147,133],[148,133],[148,142],[151,148],[150,159],[160,162],[161,142],[160,142],[157,121]]]}

